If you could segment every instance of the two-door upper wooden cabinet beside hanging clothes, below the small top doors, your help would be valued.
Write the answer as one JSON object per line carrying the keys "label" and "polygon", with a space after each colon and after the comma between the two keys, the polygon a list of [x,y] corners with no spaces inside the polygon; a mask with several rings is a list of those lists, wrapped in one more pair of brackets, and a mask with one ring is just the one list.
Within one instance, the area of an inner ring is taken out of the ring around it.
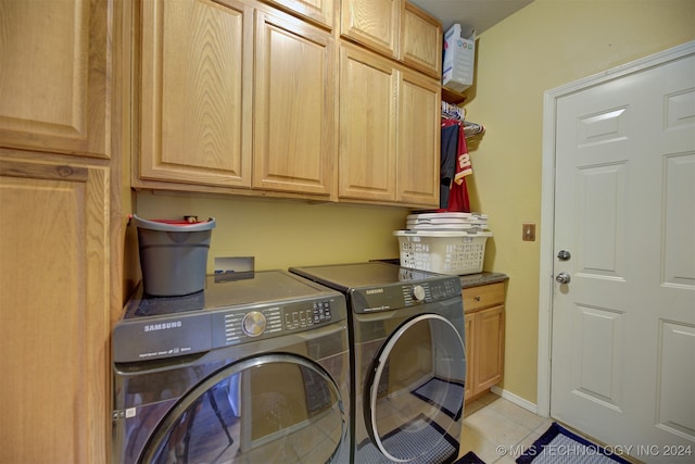
{"label": "two-door upper wooden cabinet beside hanging clothes, below the small top doors", "polygon": [[340,54],[339,197],[439,204],[439,83],[349,43]]}

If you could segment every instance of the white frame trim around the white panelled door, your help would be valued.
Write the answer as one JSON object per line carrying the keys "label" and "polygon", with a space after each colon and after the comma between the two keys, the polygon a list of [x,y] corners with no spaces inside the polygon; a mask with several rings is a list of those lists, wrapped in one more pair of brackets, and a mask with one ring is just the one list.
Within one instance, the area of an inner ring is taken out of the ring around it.
{"label": "white frame trim around the white panelled door", "polygon": [[553,340],[553,291],[555,289],[553,249],[555,243],[555,118],[557,100],[571,93],[660,66],[695,53],[690,41],[593,76],[545,91],[543,96],[543,162],[541,181],[541,243],[539,275],[538,414],[551,415],[551,356]]}

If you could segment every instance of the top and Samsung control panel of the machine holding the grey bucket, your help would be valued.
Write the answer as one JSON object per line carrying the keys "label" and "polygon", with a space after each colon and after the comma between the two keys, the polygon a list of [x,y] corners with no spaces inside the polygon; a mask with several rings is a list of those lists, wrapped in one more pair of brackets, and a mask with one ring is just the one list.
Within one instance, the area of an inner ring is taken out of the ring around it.
{"label": "top and Samsung control panel of the machine holding the grey bucket", "polygon": [[[131,363],[204,353],[305,330],[348,324],[345,296],[300,276],[257,272],[218,280],[184,297],[128,301],[112,333],[112,360]],[[255,348],[254,348],[255,349]]]}

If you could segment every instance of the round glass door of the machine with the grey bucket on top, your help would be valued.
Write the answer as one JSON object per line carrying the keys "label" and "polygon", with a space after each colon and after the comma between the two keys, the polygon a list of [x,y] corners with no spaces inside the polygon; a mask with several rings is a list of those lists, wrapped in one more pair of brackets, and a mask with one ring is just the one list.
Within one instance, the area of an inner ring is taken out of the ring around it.
{"label": "round glass door of the machine with the grey bucket on top", "polygon": [[266,354],[228,365],[162,419],[141,463],[325,463],[346,417],[338,385],[318,364]]}

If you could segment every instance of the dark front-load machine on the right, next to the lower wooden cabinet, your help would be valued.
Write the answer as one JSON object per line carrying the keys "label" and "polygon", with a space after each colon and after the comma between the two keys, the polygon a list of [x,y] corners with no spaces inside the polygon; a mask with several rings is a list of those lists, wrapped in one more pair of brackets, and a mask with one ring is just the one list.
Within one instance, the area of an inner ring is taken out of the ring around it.
{"label": "dark front-load machine on the right, next to the lower wooden cabinet", "polygon": [[379,262],[291,267],[345,294],[354,463],[450,463],[466,379],[458,277]]}

